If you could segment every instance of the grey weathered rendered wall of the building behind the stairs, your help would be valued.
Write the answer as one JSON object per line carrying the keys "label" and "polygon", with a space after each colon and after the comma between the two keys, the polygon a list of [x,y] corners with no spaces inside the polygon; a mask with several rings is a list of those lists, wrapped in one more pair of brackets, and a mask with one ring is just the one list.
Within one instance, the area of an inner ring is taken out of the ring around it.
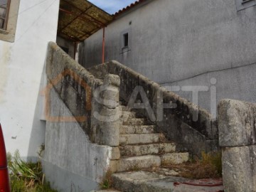
{"label": "grey weathered rendered wall of the building behind the stairs", "polygon": [[[160,85],[211,86],[216,78],[218,101],[256,102],[256,6],[237,11],[235,1],[148,1],[105,28],[106,60],[118,60]],[[126,31],[129,51],[122,53]],[[101,42],[98,31],[83,43],[85,68],[101,63]],[[191,92],[177,94],[191,100]],[[210,90],[199,95],[199,105],[210,111]]]}

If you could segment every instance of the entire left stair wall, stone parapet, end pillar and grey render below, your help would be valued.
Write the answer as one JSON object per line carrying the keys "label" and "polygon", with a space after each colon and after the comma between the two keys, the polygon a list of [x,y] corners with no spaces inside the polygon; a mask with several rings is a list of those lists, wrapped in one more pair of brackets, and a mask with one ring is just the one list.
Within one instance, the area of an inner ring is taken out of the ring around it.
{"label": "entire left stair wall, stone parapet, end pillar and grey render below", "polygon": [[95,78],[55,43],[48,45],[46,75],[44,173],[60,191],[97,189],[120,158],[119,77]]}

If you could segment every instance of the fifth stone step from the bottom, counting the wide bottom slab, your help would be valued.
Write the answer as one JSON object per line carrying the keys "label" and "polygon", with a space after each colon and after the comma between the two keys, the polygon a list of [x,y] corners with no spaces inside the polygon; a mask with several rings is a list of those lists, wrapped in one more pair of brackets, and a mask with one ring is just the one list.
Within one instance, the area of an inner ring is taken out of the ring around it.
{"label": "fifth stone step from the bottom, counting the wide bottom slab", "polygon": [[120,134],[151,134],[154,133],[155,125],[122,125]]}

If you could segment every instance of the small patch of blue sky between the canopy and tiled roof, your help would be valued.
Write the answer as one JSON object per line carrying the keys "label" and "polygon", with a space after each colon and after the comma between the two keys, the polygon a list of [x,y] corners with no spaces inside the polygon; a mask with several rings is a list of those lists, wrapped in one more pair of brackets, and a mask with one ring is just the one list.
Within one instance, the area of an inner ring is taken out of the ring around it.
{"label": "small patch of blue sky between the canopy and tiled roof", "polygon": [[134,3],[136,0],[88,0],[92,4],[100,7],[109,14],[114,14],[115,12],[123,9],[124,7]]}

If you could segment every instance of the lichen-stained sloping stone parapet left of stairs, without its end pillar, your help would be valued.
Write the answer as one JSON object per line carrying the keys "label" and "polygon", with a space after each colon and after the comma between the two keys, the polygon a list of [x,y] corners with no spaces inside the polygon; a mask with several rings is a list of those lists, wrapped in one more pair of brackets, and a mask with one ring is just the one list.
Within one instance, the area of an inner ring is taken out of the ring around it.
{"label": "lichen-stained sloping stone parapet left of stairs, without its end pillar", "polygon": [[[92,137],[91,101],[94,90],[102,85],[102,80],[96,79],[85,68],[75,62],[55,43],[49,43],[46,59],[46,75],[50,86],[67,105],[82,129]],[[78,117],[85,117],[80,121]]]}

